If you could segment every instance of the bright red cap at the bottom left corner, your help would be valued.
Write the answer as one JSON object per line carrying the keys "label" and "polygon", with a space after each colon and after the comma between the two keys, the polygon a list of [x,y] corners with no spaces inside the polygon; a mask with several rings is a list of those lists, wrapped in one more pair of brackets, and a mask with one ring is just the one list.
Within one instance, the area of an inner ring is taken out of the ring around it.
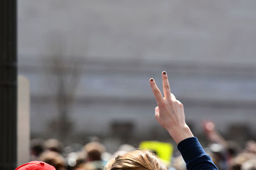
{"label": "bright red cap at the bottom left corner", "polygon": [[31,161],[17,167],[15,170],[56,170],[55,167],[40,161]]}

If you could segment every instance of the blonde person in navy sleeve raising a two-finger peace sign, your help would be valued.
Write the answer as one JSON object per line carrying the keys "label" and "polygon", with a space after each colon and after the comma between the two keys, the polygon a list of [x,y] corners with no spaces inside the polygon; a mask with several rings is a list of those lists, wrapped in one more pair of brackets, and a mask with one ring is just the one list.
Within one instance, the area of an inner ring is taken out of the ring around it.
{"label": "blonde person in navy sleeve raising a two-finger peace sign", "polygon": [[[155,109],[157,122],[169,132],[177,143],[187,169],[218,169],[186,124],[183,104],[171,93],[166,71],[163,71],[162,79],[164,97],[154,79],[150,78],[150,86],[157,101]],[[166,167],[153,153],[136,150],[110,160],[105,168],[105,170],[118,169],[165,170]]]}

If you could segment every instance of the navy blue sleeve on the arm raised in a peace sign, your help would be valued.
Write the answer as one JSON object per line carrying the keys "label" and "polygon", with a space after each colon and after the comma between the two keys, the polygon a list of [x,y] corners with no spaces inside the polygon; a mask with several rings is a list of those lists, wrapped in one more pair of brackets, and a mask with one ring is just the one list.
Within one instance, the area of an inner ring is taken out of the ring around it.
{"label": "navy blue sleeve on the arm raised in a peace sign", "polygon": [[204,148],[200,145],[197,138],[187,138],[178,144],[183,159],[186,162],[187,169],[218,169],[207,155]]}

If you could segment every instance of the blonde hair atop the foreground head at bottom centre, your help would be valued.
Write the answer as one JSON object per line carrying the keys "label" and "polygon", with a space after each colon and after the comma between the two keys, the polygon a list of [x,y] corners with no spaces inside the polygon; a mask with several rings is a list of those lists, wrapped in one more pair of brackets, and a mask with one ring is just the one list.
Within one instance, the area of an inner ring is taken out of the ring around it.
{"label": "blonde hair atop the foreground head at bottom centre", "polygon": [[115,159],[109,160],[104,170],[167,170],[164,164],[154,153],[147,150],[134,150],[118,155]]}

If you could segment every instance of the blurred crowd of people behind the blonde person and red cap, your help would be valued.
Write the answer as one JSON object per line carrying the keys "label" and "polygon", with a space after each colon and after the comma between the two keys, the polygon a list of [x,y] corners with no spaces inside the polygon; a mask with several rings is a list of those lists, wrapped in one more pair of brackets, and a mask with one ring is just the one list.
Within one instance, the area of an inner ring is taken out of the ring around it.
{"label": "blurred crowd of people behind the blonde person and red cap", "polygon": [[[247,141],[243,147],[236,141],[227,141],[216,131],[212,122],[204,123],[205,136],[209,144],[205,148],[214,164],[220,170],[256,170],[256,142]],[[86,145],[73,144],[63,146],[58,139],[32,139],[31,160],[41,160],[56,167],[57,170],[100,170],[108,160],[136,150],[131,145],[121,145],[115,153],[106,152],[99,139],[93,139]],[[154,151],[152,151],[154,152]],[[157,154],[157,153],[156,153]],[[170,170],[186,169],[179,153],[173,153],[172,161],[164,162]]]}

